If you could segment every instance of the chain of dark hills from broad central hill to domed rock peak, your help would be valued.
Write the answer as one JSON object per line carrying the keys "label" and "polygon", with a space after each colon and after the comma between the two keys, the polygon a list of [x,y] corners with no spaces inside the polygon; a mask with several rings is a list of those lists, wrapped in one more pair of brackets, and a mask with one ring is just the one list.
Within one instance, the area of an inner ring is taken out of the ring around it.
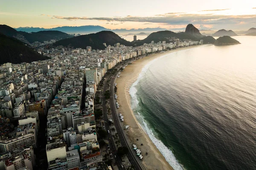
{"label": "chain of dark hills from broad central hill to domed rock peak", "polygon": [[179,38],[180,40],[195,40],[200,41],[204,40],[204,43],[214,43],[215,39],[210,36],[203,36],[200,34],[199,30],[195,28],[192,24],[189,24],[186,29],[187,32],[180,32],[175,33],[172,31],[157,31],[153,32],[144,40],[137,40],[133,42],[126,41],[119,37],[117,34],[113,33],[112,31],[100,31],[96,34],[87,34],[81,35],[73,38],[68,38],[64,40],[60,40],[55,42],[53,45],[63,45],[66,47],[73,47],[73,48],[86,48],[87,46],[91,46],[93,49],[105,49],[103,43],[107,45],[114,45],[119,42],[122,45],[126,46],[139,46],[143,45],[144,43],[151,43],[151,41],[159,42],[159,41],[166,41],[172,42],[171,38]]}

